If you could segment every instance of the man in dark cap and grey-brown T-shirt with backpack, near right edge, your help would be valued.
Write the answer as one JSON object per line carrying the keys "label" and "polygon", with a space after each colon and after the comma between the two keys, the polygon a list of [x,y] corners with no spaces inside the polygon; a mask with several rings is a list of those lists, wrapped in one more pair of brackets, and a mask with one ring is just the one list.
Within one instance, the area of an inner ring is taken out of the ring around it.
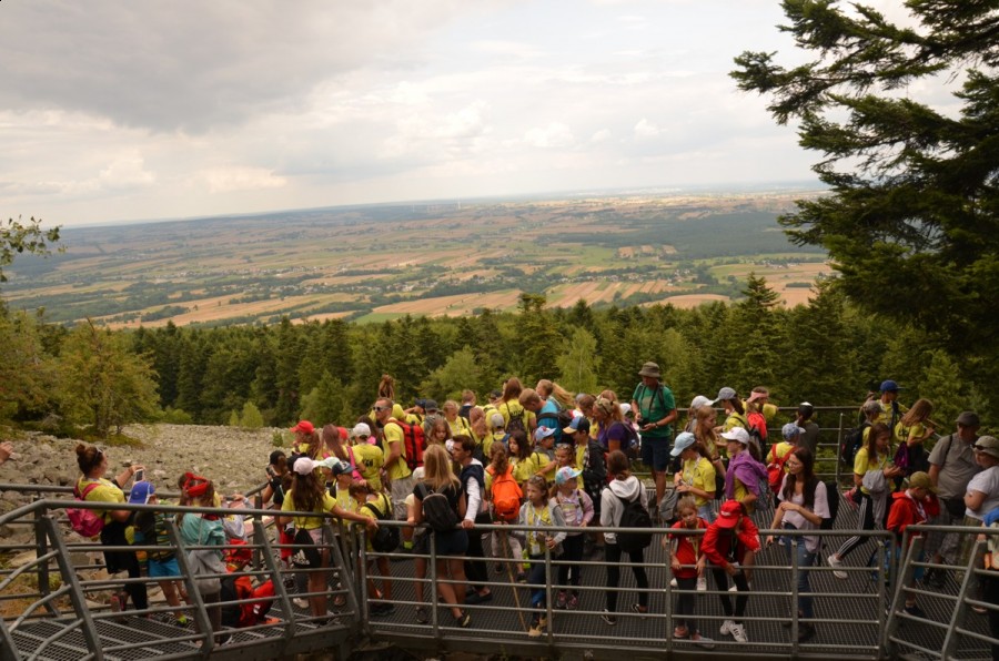
{"label": "man in dark cap and grey-brown T-shirt with backpack, near right edge", "polygon": [[[940,515],[934,520],[938,526],[959,526],[965,518],[965,491],[971,478],[981,471],[975,460],[971,447],[978,440],[980,420],[973,410],[966,410],[957,418],[957,431],[945,436],[934,446],[929,456],[930,481],[940,498]],[[934,562],[940,563],[945,556],[957,560],[953,552],[958,549],[958,539],[953,533],[931,532],[926,539],[926,553],[932,555]],[[942,571],[927,571],[924,579],[927,583],[942,588]]]}

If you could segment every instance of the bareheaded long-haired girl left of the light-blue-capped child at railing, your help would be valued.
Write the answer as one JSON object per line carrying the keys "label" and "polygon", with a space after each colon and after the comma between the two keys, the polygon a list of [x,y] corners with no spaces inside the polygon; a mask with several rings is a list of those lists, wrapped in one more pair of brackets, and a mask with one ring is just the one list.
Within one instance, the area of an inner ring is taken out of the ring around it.
{"label": "bareheaded long-haired girl left of the light-blue-capped child at railing", "polygon": [[565,526],[562,508],[548,500],[548,486],[539,475],[527,480],[527,502],[521,507],[519,522],[534,529],[527,531],[527,558],[531,560],[527,583],[534,588],[531,592],[531,606],[535,609],[527,635],[537,638],[548,624],[545,618],[545,549],[555,558],[556,548],[565,540],[565,532],[539,530],[548,526]]}

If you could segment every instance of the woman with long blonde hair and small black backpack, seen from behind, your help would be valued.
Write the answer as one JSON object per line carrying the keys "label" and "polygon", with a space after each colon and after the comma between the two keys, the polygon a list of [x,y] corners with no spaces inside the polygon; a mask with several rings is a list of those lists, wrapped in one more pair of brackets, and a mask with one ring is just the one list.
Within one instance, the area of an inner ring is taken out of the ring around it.
{"label": "woman with long blonde hair and small black backpack, seen from behind", "polygon": [[[415,525],[421,525],[426,518],[423,501],[428,496],[442,494],[453,509],[456,520],[465,518],[465,495],[462,492],[461,482],[452,469],[451,456],[443,445],[428,445],[423,454],[423,479],[413,489],[415,499]],[[437,582],[434,586],[441,593],[444,602],[451,607],[455,627],[467,628],[472,623],[472,616],[464,612],[461,606],[465,600],[465,551],[468,550],[468,533],[463,528],[454,530],[435,530],[422,537],[416,550],[420,555],[430,553],[430,535],[434,536],[436,551]],[[426,578],[424,563],[421,572],[420,563],[416,565],[416,601],[423,601],[423,579]],[[448,580],[450,577],[450,580]],[[416,607],[416,621],[427,621],[427,613],[423,606]]]}

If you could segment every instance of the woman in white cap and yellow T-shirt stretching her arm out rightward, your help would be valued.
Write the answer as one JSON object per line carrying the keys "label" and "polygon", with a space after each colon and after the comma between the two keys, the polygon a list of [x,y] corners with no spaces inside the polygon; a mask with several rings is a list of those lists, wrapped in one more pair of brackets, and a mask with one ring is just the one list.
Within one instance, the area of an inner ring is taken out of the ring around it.
{"label": "woman in white cap and yellow T-shirt stretching her arm out rightward", "polygon": [[[309,533],[312,543],[322,547],[319,552],[319,562],[313,566],[310,562],[309,571],[309,606],[312,610],[312,617],[326,617],[326,583],[330,579],[326,568],[330,566],[329,543],[332,539],[324,539],[323,532],[323,513],[330,512],[341,519],[349,519],[359,523],[364,523],[370,531],[377,529],[377,521],[370,519],[364,515],[347,511],[336,504],[336,500],[330,496],[323,485],[322,479],[317,477],[315,470],[316,462],[309,457],[301,457],[294,465],[294,478],[292,479],[292,488],[284,497],[284,504],[281,511],[302,511],[313,512],[304,516],[284,516],[278,517],[280,526],[286,526],[294,522],[296,531],[304,530]],[[297,536],[297,535],[296,535]]]}

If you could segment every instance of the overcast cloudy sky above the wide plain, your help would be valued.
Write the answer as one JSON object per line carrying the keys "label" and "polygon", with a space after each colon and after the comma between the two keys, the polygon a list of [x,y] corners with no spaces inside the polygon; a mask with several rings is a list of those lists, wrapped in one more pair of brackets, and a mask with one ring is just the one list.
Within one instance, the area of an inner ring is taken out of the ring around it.
{"label": "overcast cloudy sky above the wide plain", "polygon": [[0,214],[806,181],[727,77],[789,53],[783,22],[777,0],[3,2]]}

